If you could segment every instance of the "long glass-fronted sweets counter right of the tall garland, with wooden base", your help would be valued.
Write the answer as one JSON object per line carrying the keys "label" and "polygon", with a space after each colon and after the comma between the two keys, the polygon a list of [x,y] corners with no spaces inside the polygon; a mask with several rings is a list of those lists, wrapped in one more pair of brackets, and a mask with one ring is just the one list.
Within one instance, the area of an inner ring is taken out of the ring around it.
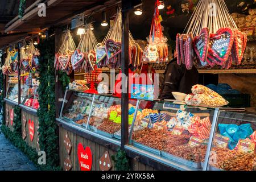
{"label": "long glass-fronted sweets counter right of the tall garland, with wooden base", "polygon": [[[79,143],[92,151],[92,170],[99,168],[105,151],[109,155],[117,152],[121,145],[120,103],[120,98],[113,96],[66,90],[60,118],[56,119],[61,167],[67,162],[67,138],[72,145],[72,170],[81,169],[77,164]],[[130,134],[125,150],[133,169],[230,170],[226,165],[237,158],[242,160],[244,155],[248,165],[237,169],[253,170],[256,117],[226,109],[130,100]],[[241,147],[244,143],[251,143],[251,149]]]}

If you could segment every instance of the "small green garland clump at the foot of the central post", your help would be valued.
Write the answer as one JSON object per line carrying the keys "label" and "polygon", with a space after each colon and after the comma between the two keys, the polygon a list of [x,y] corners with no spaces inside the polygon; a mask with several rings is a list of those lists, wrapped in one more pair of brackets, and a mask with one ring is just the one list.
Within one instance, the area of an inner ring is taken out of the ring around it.
{"label": "small green garland clump at the foot of the central post", "polygon": [[119,149],[117,154],[111,156],[112,160],[115,162],[115,170],[117,171],[130,171],[131,167],[129,160],[126,157],[125,151]]}

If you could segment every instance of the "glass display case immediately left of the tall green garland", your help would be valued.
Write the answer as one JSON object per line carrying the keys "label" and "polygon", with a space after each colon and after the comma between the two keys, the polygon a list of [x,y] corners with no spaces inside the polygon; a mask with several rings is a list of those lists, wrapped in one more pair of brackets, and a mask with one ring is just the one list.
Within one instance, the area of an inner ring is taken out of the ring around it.
{"label": "glass display case immediately left of the tall green garland", "polygon": [[38,78],[22,76],[20,84],[20,104],[38,110]]}

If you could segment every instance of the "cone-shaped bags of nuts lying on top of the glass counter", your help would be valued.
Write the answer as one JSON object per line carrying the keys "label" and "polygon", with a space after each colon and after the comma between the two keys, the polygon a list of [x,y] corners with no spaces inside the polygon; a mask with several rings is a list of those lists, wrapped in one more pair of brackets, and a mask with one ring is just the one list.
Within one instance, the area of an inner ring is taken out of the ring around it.
{"label": "cone-shaped bags of nuts lying on top of the glass counter", "polygon": [[204,85],[194,85],[192,86],[191,90],[192,93],[185,97],[185,102],[187,105],[221,107],[229,104],[229,102],[221,97],[220,94],[214,92]]}

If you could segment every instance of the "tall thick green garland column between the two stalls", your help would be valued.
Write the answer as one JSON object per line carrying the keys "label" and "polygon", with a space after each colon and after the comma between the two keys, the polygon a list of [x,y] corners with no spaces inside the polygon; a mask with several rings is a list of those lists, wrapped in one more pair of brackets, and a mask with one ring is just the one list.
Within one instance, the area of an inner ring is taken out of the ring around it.
{"label": "tall thick green garland column between the two stalls", "polygon": [[46,163],[59,166],[59,133],[55,121],[55,69],[54,37],[42,39],[38,49],[39,58],[39,143],[40,150],[46,152]]}

